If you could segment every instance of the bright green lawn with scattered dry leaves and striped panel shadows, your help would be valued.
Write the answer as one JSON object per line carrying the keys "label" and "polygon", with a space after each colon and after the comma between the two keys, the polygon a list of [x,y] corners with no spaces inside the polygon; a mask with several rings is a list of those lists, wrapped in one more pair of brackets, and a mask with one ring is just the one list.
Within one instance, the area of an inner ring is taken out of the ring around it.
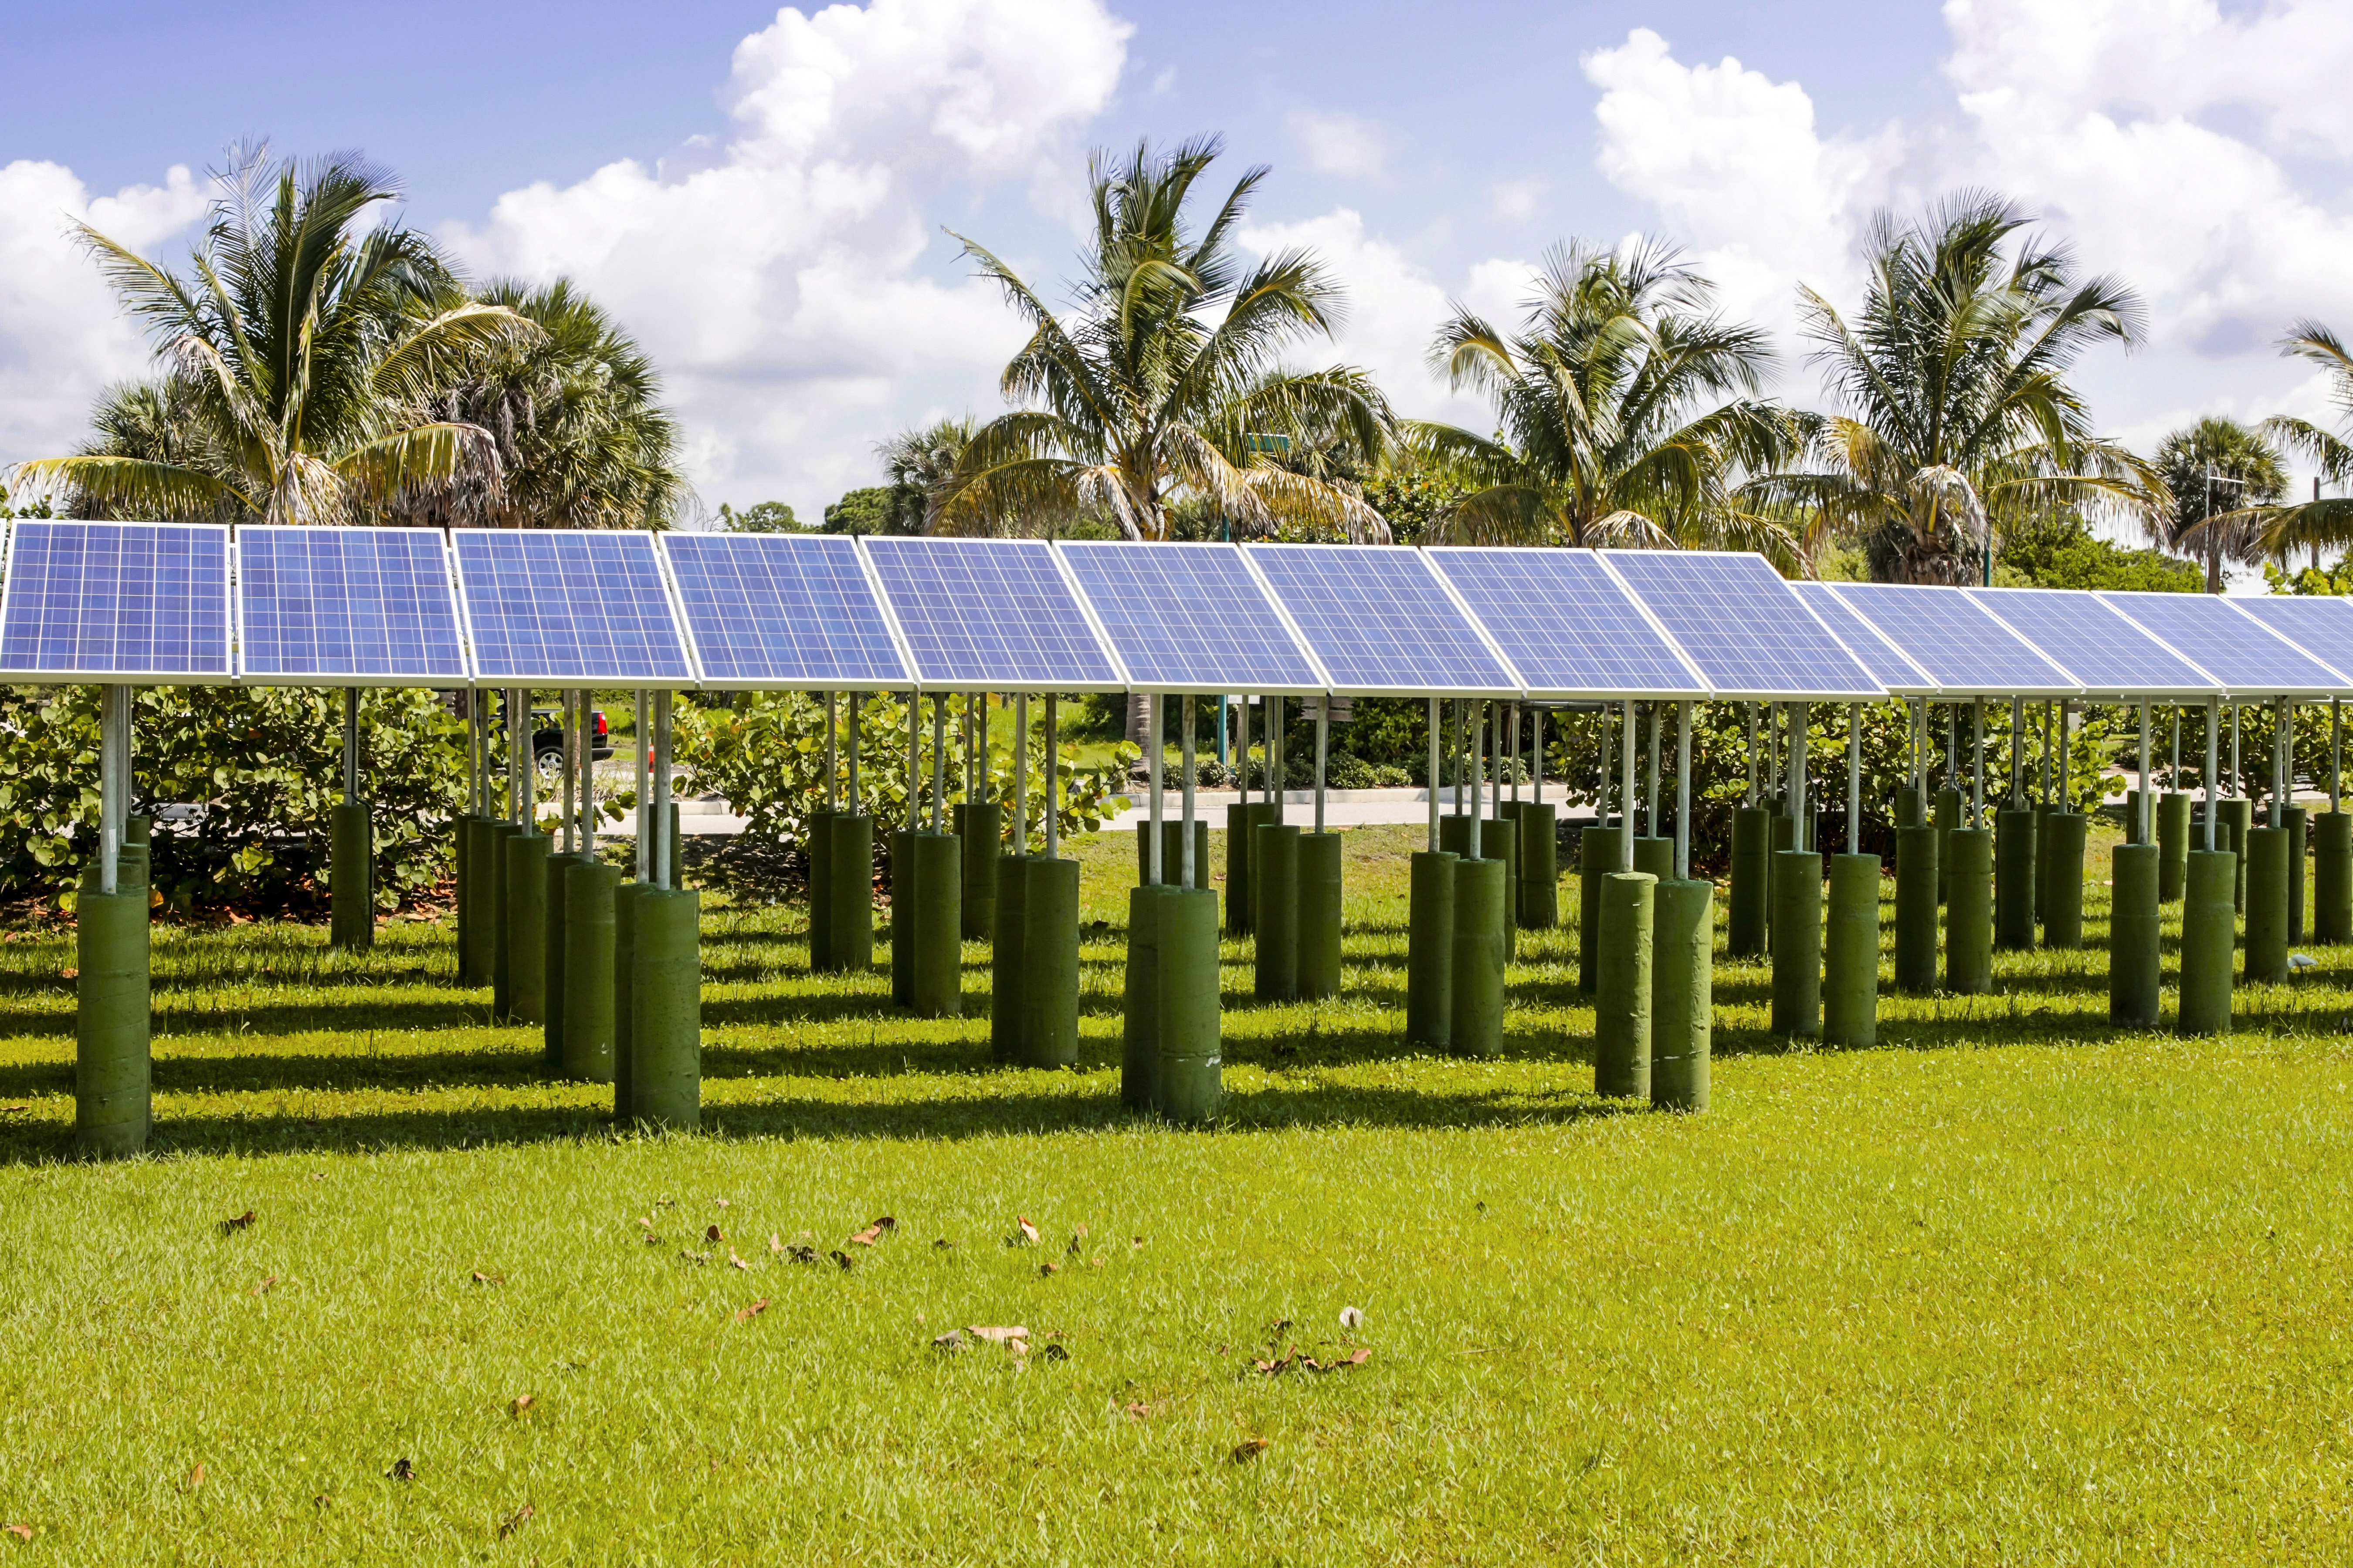
{"label": "bright green lawn with scattered dry leaves and striped panel shadows", "polygon": [[1351,835],[1346,1001],[1228,945],[1209,1133],[1118,1112],[1125,835],[1078,1072],[991,1065],[979,947],[918,1023],[715,910],[696,1138],[544,1084],[438,926],[158,929],[155,1152],[68,1164],[71,950],[0,945],[0,1556],[2346,1559],[2353,954],[2207,1041],[2000,954],[1852,1053],[1722,964],[1715,1110],[1657,1117],[1591,1095],[1558,933],[1501,1060],[1398,1046],[1414,839]]}

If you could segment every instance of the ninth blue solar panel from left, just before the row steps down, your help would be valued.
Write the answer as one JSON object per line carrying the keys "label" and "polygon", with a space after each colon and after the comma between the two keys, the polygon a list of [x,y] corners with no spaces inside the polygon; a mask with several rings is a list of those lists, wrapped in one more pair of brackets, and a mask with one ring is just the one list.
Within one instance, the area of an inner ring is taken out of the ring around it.
{"label": "ninth blue solar panel from left, just before the row steps down", "polygon": [[1607,550],[1602,559],[1666,625],[1718,696],[1885,696],[1762,555]]}

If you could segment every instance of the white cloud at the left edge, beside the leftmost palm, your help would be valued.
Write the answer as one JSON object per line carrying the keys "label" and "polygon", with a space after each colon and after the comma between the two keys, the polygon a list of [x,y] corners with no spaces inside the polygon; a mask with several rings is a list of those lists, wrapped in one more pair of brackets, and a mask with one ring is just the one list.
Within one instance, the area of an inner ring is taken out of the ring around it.
{"label": "white cloud at the left edge, beside the leftmost palm", "polygon": [[184,165],[162,186],[96,197],[64,165],[0,167],[0,463],[71,451],[99,390],[148,369],[146,341],[71,226],[153,252],[202,209],[205,188]]}

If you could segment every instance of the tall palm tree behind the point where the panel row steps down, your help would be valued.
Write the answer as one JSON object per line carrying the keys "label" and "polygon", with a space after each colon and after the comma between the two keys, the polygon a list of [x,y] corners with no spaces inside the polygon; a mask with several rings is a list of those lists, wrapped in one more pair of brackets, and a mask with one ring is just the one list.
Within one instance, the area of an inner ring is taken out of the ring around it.
{"label": "tall palm tree behind the point where the panel row steps down", "polygon": [[2141,458],[2092,430],[2066,376],[2097,343],[2132,346],[2141,306],[2078,280],[2066,249],[2012,235],[2024,214],[1962,193],[1925,221],[1873,219],[1857,324],[1814,289],[1800,313],[1840,411],[1809,421],[1812,473],[1769,480],[1812,541],[1857,538],[1871,576],[1991,581],[1995,536],[2066,508],[2153,520],[2169,498]]}

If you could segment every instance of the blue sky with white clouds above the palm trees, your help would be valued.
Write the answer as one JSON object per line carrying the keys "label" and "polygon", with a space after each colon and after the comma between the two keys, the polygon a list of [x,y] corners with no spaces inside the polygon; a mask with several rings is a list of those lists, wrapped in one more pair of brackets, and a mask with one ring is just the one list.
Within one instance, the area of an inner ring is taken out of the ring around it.
{"label": "blue sky with white clouds above the palm trees", "polygon": [[[1054,292],[1085,153],[1221,132],[1245,235],[1351,287],[1334,355],[1409,414],[1449,299],[1508,310],[1565,237],[1680,240],[1772,324],[1859,296],[1875,207],[2012,193],[2151,308],[2082,381],[2141,449],[2200,414],[2327,416],[2275,341],[2353,331],[2353,5],[1751,0],[1184,7],[722,0],[191,12],[31,0],[0,94],[0,463],[68,449],[146,346],[71,219],[176,261],[240,136],[360,148],[475,275],[572,275],[668,374],[708,508],[814,515],[875,440],[1000,407],[1019,329],[955,228]],[[82,61],[106,59],[106,89]]]}

